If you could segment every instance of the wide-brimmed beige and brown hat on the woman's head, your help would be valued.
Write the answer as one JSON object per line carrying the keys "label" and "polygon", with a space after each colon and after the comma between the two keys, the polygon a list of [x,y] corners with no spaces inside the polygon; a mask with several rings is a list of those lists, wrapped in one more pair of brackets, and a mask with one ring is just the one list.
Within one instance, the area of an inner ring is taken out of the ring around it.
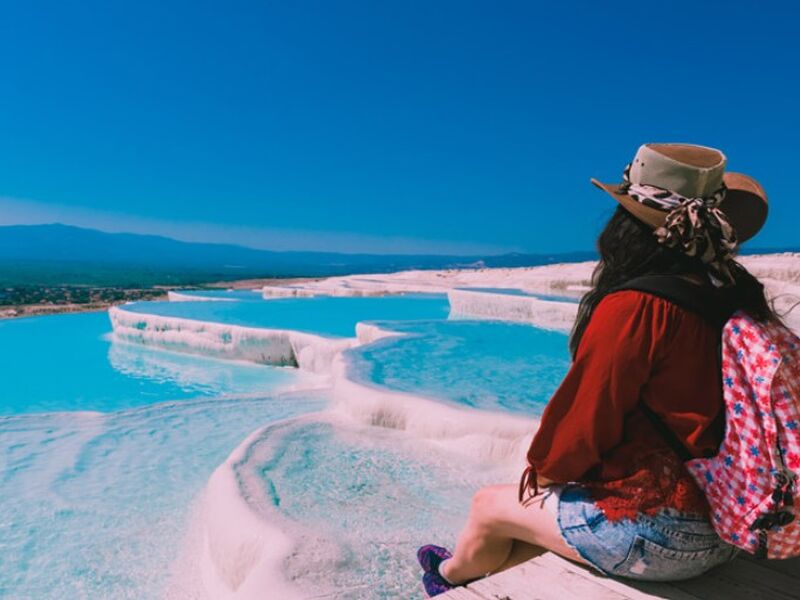
{"label": "wide-brimmed beige and brown hat on the woman's head", "polygon": [[[767,219],[767,195],[752,177],[725,172],[725,155],[692,144],[644,144],[619,184],[592,183],[654,230],[692,199],[719,209],[733,227],[735,243],[752,238]],[[698,203],[699,204],[699,203]]]}

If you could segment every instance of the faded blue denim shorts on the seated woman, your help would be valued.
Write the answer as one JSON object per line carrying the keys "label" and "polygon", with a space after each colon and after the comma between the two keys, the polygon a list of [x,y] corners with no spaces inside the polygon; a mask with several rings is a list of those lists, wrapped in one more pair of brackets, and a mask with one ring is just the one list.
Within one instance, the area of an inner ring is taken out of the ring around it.
{"label": "faded blue denim shorts on the seated woman", "polygon": [[606,575],[678,581],[702,575],[737,553],[701,515],[665,508],[652,516],[611,522],[580,486],[564,486],[554,496],[564,540]]}

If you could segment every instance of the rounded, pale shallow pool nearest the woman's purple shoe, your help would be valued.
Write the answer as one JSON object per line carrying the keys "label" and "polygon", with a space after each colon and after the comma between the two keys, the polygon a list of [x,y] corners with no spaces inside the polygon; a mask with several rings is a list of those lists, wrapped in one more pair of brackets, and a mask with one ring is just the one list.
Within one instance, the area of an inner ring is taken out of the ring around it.
{"label": "rounded, pale shallow pool nearest the woman's purple shoe", "polygon": [[272,428],[250,456],[246,495],[288,522],[286,576],[304,597],[424,597],[416,549],[452,547],[473,492],[504,476],[397,431],[327,422]]}

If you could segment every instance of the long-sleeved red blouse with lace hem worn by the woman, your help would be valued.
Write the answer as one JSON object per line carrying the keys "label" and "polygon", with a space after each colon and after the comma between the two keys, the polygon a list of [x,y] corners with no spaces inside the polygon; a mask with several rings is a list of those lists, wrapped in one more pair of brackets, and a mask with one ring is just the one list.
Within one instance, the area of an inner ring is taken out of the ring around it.
{"label": "long-sleeved red blouse with lace hem worn by the woman", "polygon": [[604,298],[528,451],[540,477],[588,487],[610,520],[664,507],[707,514],[705,497],[640,403],[695,456],[722,443],[720,332],[666,300]]}

